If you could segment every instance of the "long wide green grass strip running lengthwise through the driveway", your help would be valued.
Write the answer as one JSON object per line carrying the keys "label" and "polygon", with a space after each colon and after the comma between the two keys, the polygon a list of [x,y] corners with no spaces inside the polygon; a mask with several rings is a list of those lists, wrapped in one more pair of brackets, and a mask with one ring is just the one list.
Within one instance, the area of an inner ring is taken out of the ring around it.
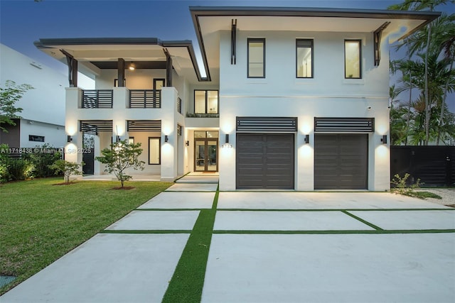
{"label": "long wide green grass strip running lengthwise through the driveway", "polygon": [[201,209],[175,272],[164,294],[163,303],[200,302],[204,286],[208,251],[212,241],[218,204],[218,189],[212,209]]}

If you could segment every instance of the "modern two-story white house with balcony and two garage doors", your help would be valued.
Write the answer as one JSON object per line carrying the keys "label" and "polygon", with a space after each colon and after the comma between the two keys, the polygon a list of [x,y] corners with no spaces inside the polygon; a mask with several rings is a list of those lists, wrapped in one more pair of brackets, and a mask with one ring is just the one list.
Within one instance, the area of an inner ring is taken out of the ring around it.
{"label": "modern two-story white house with balcony and two garage doors", "polygon": [[[434,12],[191,7],[191,41],[40,39],[68,63],[67,159],[140,142],[142,173],[220,190],[390,189],[389,45]],[[202,72],[200,72],[202,70]],[[95,90],[77,87],[77,71]],[[95,174],[104,167],[95,162]]]}

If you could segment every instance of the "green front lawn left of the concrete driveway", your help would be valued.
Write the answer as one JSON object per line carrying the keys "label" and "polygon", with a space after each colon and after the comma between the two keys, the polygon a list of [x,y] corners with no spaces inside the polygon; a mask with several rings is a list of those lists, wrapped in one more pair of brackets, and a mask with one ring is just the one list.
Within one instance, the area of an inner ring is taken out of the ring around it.
{"label": "green front lawn left of the concrete driveway", "polygon": [[0,274],[17,277],[12,287],[121,219],[170,182],[80,181],[61,178],[0,184]]}

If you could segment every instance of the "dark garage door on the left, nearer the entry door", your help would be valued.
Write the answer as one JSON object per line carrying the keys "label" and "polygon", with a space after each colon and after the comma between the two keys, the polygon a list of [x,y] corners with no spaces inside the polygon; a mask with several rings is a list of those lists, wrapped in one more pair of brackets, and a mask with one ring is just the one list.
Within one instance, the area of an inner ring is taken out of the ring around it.
{"label": "dark garage door on the left, nearer the entry door", "polygon": [[294,134],[237,133],[238,189],[294,189]]}

